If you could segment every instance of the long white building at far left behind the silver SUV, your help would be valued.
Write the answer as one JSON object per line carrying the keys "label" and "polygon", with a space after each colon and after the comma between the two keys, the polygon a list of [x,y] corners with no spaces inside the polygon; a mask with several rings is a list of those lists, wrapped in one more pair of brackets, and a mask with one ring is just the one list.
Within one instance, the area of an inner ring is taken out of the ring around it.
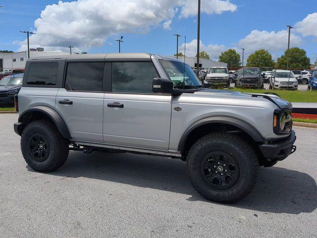
{"label": "long white building at far left behind the silver SUV", "polygon": [[[60,56],[67,55],[65,52],[48,52],[42,51],[43,48],[39,48],[38,50],[32,49],[30,51],[31,57],[38,56]],[[12,69],[24,68],[26,60],[28,59],[28,52],[15,52],[15,53],[0,53],[0,72],[10,72]]]}

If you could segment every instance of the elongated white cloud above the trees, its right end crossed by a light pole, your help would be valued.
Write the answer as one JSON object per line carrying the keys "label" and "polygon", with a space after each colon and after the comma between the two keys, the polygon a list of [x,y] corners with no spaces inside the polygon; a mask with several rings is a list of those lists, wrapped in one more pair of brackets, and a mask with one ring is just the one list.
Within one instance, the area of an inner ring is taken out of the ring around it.
{"label": "elongated white cloud above the trees, its right end crossed by a light pole", "polygon": [[[253,30],[244,39],[239,41],[239,47],[246,49],[246,54],[251,54],[256,50],[264,49],[270,52],[279,52],[287,49],[288,31],[259,31]],[[302,38],[291,33],[291,47],[300,46]]]}

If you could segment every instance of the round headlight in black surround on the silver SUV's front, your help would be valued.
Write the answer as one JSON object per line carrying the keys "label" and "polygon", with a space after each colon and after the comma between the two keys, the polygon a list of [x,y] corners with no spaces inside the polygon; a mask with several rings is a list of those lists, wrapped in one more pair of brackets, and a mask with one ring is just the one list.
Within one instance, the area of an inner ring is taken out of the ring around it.
{"label": "round headlight in black surround on the silver SUV's front", "polygon": [[288,134],[292,129],[292,113],[290,110],[275,110],[273,118],[273,131],[275,134]]}

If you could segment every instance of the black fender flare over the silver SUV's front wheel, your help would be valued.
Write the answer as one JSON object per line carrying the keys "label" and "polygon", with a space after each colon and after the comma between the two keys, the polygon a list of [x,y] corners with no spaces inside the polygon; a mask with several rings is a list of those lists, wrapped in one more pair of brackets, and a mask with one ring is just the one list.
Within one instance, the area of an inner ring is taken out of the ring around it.
{"label": "black fender flare over the silver SUV's front wheel", "polygon": [[247,123],[241,119],[237,119],[237,118],[226,117],[226,116],[214,116],[214,117],[200,119],[200,120],[194,122],[192,125],[190,125],[186,129],[186,131],[183,133],[183,135],[178,143],[177,150],[178,151],[184,150],[185,142],[186,142],[189,134],[193,130],[195,130],[196,128],[198,128],[199,126],[202,126],[204,124],[212,124],[212,123],[223,123],[223,124],[233,125],[239,129],[243,130],[247,134],[249,134],[254,141],[259,142],[259,143],[264,142],[264,138],[261,135],[261,133],[256,128],[254,128],[252,125],[250,125],[249,123]]}

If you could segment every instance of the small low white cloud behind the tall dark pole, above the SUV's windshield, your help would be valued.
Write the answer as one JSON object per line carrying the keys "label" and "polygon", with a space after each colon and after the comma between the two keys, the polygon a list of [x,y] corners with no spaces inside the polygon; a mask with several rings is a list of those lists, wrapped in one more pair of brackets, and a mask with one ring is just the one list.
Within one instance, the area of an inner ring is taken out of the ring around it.
{"label": "small low white cloud behind the tall dark pole, above the SUV's windshield", "polygon": [[[180,52],[184,54],[185,44],[180,46]],[[202,41],[200,41],[200,51],[206,51],[211,59],[217,60],[221,52],[226,51],[228,48],[224,45],[208,45],[205,46]],[[195,57],[197,54],[197,40],[193,40],[186,44],[186,56]]]}

